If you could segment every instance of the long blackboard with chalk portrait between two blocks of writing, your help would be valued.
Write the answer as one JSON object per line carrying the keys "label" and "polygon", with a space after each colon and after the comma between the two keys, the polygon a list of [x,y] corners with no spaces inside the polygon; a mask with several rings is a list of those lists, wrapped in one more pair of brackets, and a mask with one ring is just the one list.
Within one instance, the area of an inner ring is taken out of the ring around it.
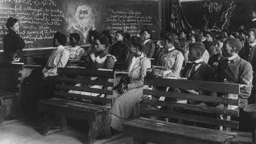
{"label": "long blackboard with chalk portrait between two blocks of writing", "polygon": [[89,30],[117,30],[136,35],[142,29],[159,35],[158,0],[0,0],[0,49],[8,30],[7,19],[16,17],[25,48],[52,47],[55,32],[76,32],[81,44]]}

